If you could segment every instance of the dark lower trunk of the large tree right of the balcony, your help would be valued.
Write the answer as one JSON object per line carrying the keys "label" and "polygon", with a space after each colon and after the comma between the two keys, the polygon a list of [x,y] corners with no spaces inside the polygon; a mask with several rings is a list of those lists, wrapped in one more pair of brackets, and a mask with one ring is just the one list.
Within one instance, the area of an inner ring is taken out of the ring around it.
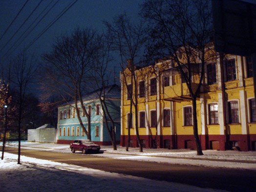
{"label": "dark lower trunk of the large tree right of the balcony", "polygon": [[198,137],[198,130],[197,130],[197,112],[196,112],[196,96],[192,97],[192,111],[193,111],[193,133],[194,133],[194,139],[196,143],[196,150],[197,155],[203,155],[201,143]]}

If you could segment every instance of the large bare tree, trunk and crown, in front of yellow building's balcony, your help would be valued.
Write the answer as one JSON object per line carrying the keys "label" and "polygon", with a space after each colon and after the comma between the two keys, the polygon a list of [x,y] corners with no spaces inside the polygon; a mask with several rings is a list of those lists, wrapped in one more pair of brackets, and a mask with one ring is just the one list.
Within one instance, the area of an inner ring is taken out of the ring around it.
{"label": "large bare tree, trunk and crown, in front of yellow building's balcony", "polygon": [[[205,64],[215,55],[209,0],[147,0],[141,15],[149,26],[148,57],[169,60],[184,78],[192,101],[193,134],[197,154],[203,155],[197,131],[196,98],[205,74]],[[194,87],[192,75],[198,75]]]}

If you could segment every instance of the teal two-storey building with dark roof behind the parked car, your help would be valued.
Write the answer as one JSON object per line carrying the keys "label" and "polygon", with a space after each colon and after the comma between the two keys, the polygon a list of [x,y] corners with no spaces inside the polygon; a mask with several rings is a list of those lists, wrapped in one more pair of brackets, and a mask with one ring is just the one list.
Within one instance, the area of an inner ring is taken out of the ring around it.
{"label": "teal two-storey building with dark roof behind the parked car", "polygon": [[[100,89],[90,92],[83,98],[87,111],[91,114],[91,140],[98,145],[111,145],[110,136],[107,132],[106,122],[103,116],[103,110],[99,100]],[[115,122],[116,141],[120,142],[120,97],[121,89],[118,85],[109,85],[105,88],[105,101],[108,111]],[[74,103],[58,107],[58,140],[59,144],[69,144],[77,139],[87,139],[79,120],[77,118]],[[87,118],[80,109],[85,128],[87,127]],[[112,126],[108,121],[108,127]]]}

